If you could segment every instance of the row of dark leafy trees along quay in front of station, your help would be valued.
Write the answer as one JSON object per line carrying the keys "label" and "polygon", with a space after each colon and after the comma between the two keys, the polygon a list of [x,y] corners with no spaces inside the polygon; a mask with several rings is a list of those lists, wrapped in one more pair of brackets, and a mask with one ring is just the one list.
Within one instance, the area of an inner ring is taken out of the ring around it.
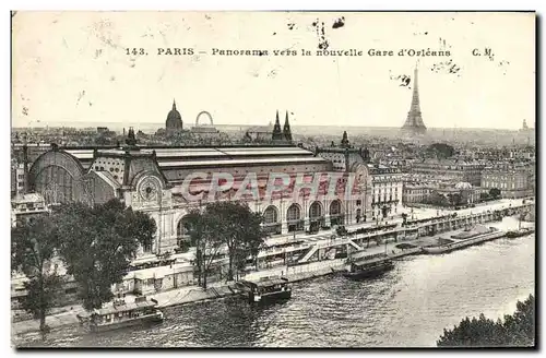
{"label": "row of dark leafy trees along quay in front of station", "polygon": [[[264,244],[262,215],[247,204],[215,202],[188,216],[191,244],[197,248],[199,285],[206,288],[206,277],[222,250],[227,248],[228,279],[246,266],[249,256],[257,260]],[[114,298],[111,287],[122,282],[135,259],[139,247],[151,247],[155,222],[144,213],[111,200],[93,207],[71,203],[55,208],[12,228],[11,268],[28,278],[23,308],[40,321],[59,295],[67,268],[79,287],[79,298],[86,310],[100,308]],[[57,264],[56,264],[57,262]]]}

